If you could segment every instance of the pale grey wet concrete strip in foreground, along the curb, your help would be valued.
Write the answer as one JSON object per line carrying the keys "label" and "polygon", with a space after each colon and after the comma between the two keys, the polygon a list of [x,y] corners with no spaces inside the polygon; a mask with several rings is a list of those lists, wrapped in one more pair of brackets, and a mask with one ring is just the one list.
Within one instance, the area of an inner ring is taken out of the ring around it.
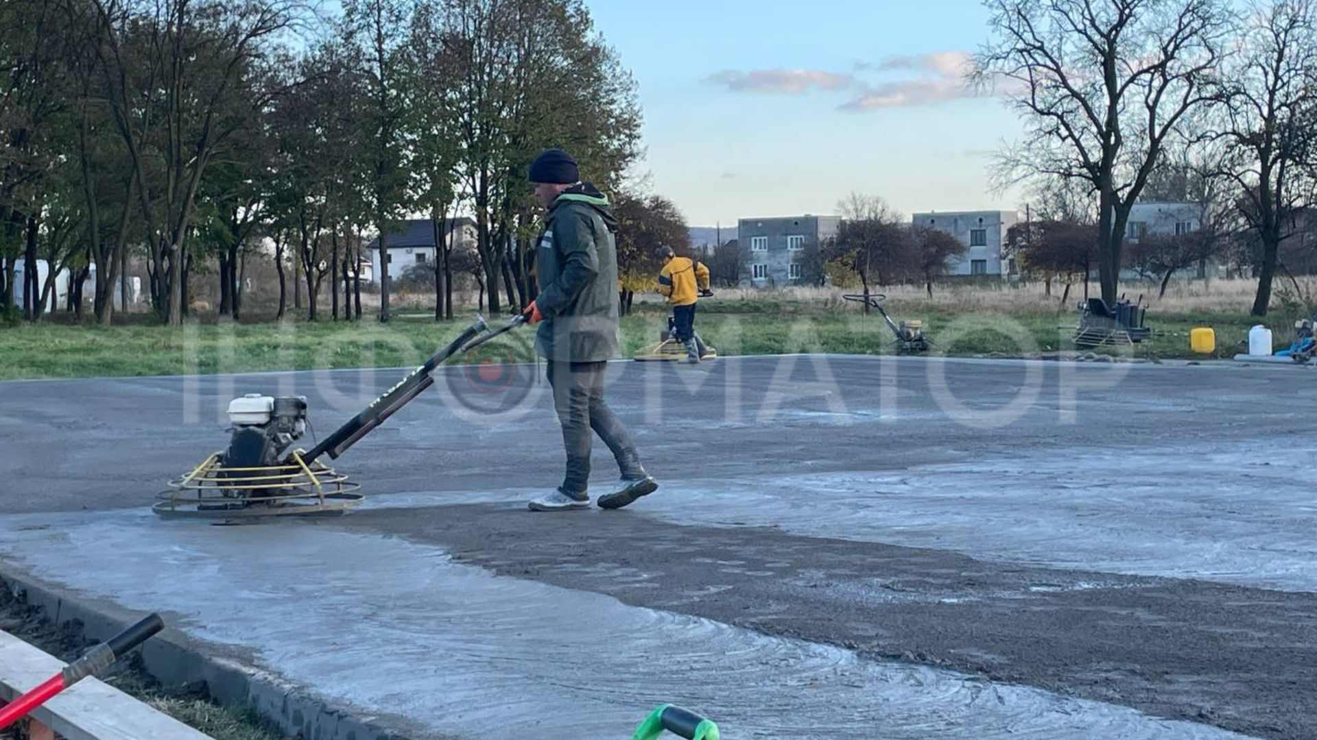
{"label": "pale grey wet concrete strip in foreground, along the curb", "polygon": [[494,575],[336,525],[162,528],[141,512],[5,524],[0,556],[36,577],[166,611],[331,702],[435,736],[626,737],[673,702],[728,737],[1242,737]]}

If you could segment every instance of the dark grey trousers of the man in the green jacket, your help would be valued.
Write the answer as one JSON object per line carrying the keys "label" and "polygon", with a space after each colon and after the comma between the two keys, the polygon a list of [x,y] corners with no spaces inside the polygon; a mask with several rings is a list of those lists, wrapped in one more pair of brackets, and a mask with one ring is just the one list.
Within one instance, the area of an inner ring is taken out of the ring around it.
{"label": "dark grey trousers of the man in the green jacket", "polygon": [[562,492],[585,498],[590,483],[590,442],[594,431],[608,445],[622,477],[644,478],[640,456],[608,404],[603,402],[607,362],[549,361],[549,384],[553,386],[553,408],[562,424],[562,446],[568,452],[568,471]]}

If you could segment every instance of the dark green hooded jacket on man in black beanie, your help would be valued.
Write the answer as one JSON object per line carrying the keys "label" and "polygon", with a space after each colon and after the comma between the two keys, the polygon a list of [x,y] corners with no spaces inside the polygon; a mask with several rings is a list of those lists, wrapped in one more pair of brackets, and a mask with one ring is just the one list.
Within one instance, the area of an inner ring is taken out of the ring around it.
{"label": "dark green hooded jacket on man in black beanie", "polygon": [[618,354],[618,221],[594,186],[577,186],[553,201],[535,267],[544,315],[535,349],[565,362],[598,362]]}

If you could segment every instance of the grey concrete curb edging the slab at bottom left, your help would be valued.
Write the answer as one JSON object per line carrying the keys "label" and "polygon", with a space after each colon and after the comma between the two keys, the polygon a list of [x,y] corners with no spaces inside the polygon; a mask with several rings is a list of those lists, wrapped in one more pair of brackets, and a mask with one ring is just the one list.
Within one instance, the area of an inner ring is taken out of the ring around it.
{"label": "grey concrete curb edging the slab at bottom left", "polygon": [[[0,583],[13,594],[24,595],[26,603],[42,607],[46,618],[55,624],[80,621],[82,635],[90,640],[109,639],[141,618],[105,602],[61,593],[58,587],[14,573],[4,564],[0,564]],[[204,681],[211,695],[220,703],[250,706],[282,732],[300,733],[306,740],[407,740],[408,737],[371,722],[379,719],[378,716],[362,718],[336,710],[321,698],[277,675],[236,660],[207,654],[200,645],[174,628],[166,628],[148,640],[141,648],[141,654],[146,672],[162,685],[180,686]]]}

